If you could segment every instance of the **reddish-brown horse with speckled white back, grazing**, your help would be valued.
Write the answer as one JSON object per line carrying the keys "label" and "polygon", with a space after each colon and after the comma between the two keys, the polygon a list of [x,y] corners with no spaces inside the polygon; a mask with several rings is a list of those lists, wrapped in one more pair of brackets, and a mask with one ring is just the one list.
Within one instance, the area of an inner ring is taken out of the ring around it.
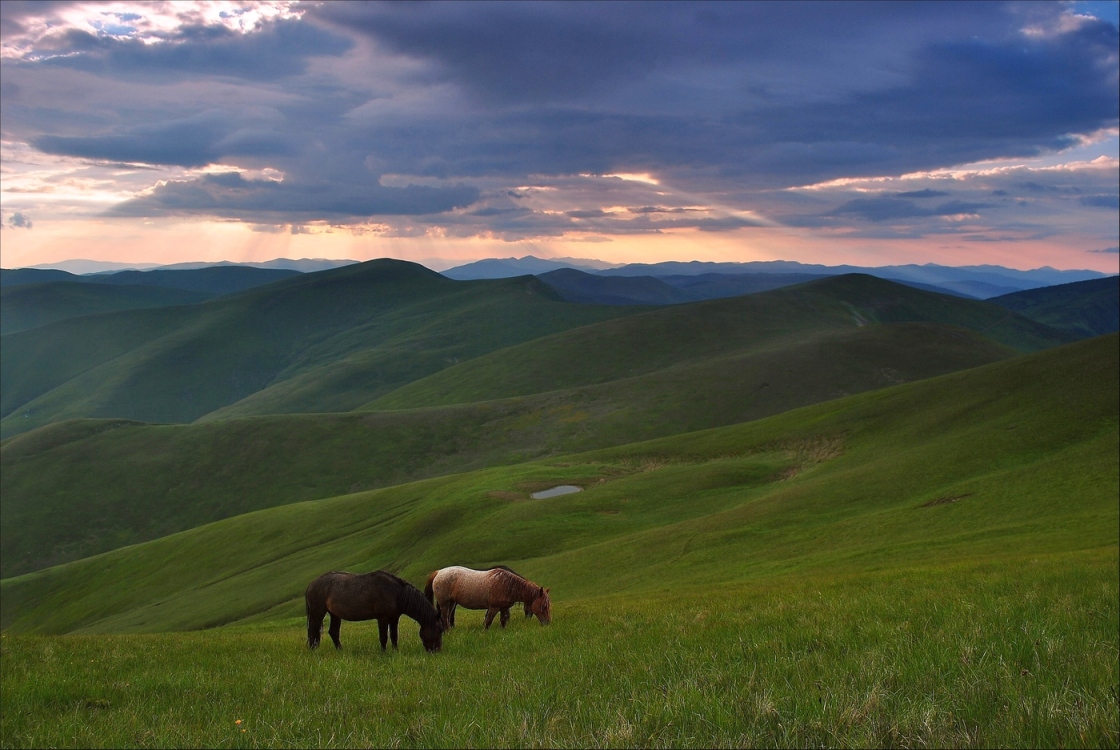
{"label": "reddish-brown horse with speckled white back, grazing", "polygon": [[510,607],[519,601],[524,602],[526,616],[535,615],[541,625],[552,621],[549,590],[505,566],[485,571],[459,565],[442,568],[428,576],[423,592],[428,601],[436,604],[445,630],[455,627],[455,609],[459,604],[467,609],[485,609],[487,628],[498,612],[504,628],[510,621]]}

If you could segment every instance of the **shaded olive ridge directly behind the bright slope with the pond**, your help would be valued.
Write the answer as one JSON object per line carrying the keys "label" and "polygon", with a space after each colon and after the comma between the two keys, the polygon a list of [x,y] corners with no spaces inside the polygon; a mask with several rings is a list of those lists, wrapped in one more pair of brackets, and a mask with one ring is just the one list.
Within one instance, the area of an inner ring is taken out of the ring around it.
{"label": "shaded olive ridge directly behind the bright slope with the pond", "polygon": [[250,510],[759,419],[1009,354],[959,328],[894,324],[486,404],[56,423],[0,447],[0,563],[13,575]]}

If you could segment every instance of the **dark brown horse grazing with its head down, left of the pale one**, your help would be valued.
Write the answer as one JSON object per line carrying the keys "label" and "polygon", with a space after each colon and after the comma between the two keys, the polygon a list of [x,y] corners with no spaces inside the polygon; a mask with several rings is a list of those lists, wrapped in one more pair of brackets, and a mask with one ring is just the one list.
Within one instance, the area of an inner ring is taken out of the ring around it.
{"label": "dark brown horse grazing with its head down, left of the pale one", "polygon": [[307,646],[315,648],[323,637],[323,618],[330,615],[330,639],[335,648],[342,648],[338,640],[343,620],[377,620],[381,630],[381,650],[392,635],[396,648],[396,624],[401,615],[408,615],[420,624],[420,640],[429,651],[438,651],[444,641],[444,627],[439,612],[408,581],[390,572],[379,570],[372,573],[324,573],[311,581],[304,594],[307,600]]}

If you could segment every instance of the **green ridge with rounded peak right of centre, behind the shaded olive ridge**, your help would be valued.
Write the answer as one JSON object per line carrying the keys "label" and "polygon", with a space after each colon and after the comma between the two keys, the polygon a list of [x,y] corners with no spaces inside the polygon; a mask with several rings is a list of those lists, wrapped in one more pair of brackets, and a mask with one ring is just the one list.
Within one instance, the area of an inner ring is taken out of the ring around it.
{"label": "green ridge with rounded peak right of centre, behind the shaded olive ridge", "polygon": [[867,322],[902,321],[960,326],[1023,351],[1053,346],[1064,336],[993,304],[850,274],[557,334],[449,367],[365,409],[469,403],[594,385]]}

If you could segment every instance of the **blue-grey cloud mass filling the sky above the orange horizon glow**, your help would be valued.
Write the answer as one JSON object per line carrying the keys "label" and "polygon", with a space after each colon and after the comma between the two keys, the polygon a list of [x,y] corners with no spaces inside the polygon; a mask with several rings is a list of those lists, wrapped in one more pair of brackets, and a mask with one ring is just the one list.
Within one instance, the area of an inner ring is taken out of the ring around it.
{"label": "blue-grey cloud mass filling the sky above the orange horizon glow", "polygon": [[[1110,195],[1068,176],[983,195],[933,180],[876,197],[776,190],[1036,157],[1114,128],[1120,37],[1057,4],[273,4],[252,30],[203,11],[159,28],[131,18],[156,4],[114,6],[123,15],[103,28],[66,26],[50,6],[57,24],[43,30],[32,20],[47,7],[15,6],[4,28],[29,41],[0,63],[6,140],[100,174],[161,166],[147,190],[131,178],[115,216],[290,227],[395,215],[427,218],[391,232],[457,236],[768,218],[920,233],[980,210],[1026,222],[990,197],[1001,191],[1029,198],[1030,221],[1058,199],[1091,215],[1100,206],[1073,197]],[[216,167],[231,171],[198,174]],[[282,179],[234,172],[265,168]],[[618,174],[660,185],[577,178]]]}

